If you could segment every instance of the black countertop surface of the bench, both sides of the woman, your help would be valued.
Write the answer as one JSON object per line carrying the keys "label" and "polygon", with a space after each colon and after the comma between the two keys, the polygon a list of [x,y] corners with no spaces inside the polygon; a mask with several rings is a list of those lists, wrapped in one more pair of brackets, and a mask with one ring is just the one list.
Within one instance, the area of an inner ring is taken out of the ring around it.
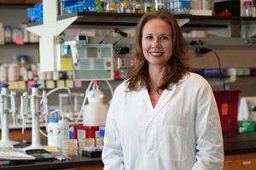
{"label": "black countertop surface of the bench, both sides of the woman", "polygon": [[[246,153],[256,153],[256,132],[255,133],[233,133],[229,135],[224,135],[224,154],[236,155],[236,154],[246,154]],[[43,170],[43,169],[57,169],[57,168],[67,168],[67,167],[81,167],[90,165],[100,165],[102,164],[101,157],[91,158],[84,156],[70,156],[72,159],[67,161],[17,161],[14,165],[5,165],[0,167],[0,169],[12,169],[12,170]]]}

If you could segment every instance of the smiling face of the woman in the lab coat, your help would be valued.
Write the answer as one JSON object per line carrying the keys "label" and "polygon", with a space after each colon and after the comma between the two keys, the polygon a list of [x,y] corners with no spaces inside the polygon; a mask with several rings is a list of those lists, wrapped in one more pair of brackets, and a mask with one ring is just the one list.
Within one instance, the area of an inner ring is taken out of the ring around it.
{"label": "smiling face of the woman in the lab coat", "polygon": [[149,20],[143,27],[143,54],[150,67],[165,67],[172,56],[172,28],[164,20]]}

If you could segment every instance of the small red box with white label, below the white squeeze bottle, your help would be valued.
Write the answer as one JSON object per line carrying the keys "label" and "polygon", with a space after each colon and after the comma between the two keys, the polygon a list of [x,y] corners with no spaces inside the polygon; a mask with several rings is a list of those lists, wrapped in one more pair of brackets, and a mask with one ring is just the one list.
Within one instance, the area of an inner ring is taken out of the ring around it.
{"label": "small red box with white label, below the white squeeze bottle", "polygon": [[73,138],[74,139],[90,139],[96,138],[96,131],[99,127],[86,127],[82,124],[71,125],[73,127]]}

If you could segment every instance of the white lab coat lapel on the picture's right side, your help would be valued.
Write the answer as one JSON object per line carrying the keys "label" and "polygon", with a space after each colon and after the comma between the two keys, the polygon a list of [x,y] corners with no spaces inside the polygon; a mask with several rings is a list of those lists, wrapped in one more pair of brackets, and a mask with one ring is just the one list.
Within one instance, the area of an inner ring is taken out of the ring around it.
{"label": "white lab coat lapel on the picture's right side", "polygon": [[150,122],[154,119],[155,116],[157,116],[162,108],[167,104],[167,102],[172,98],[172,94],[174,94],[176,90],[176,84],[170,85],[170,89],[166,89],[163,91],[163,93],[160,95],[160,99],[158,100],[157,104],[154,107],[154,110],[152,111],[152,114],[150,118],[148,119],[147,127]]}

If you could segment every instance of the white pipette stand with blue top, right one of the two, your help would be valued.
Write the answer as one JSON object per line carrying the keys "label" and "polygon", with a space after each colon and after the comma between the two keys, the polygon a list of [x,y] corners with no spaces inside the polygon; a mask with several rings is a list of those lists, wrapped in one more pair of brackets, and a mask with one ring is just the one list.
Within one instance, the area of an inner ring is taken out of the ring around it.
{"label": "white pipette stand with blue top, right one of the two", "polygon": [[[44,146],[41,144],[40,131],[39,131],[40,130],[39,129],[39,113],[41,112],[39,98],[41,98],[41,96],[38,95],[38,86],[39,84],[32,84],[32,94],[28,98],[30,99],[30,107],[31,107],[29,113],[32,115],[32,144],[26,147],[25,150],[43,150],[44,149]],[[43,94],[43,97],[44,95],[45,93]],[[27,108],[27,106],[23,105],[22,108],[24,107]],[[26,115],[26,113],[22,113],[22,114]]]}

